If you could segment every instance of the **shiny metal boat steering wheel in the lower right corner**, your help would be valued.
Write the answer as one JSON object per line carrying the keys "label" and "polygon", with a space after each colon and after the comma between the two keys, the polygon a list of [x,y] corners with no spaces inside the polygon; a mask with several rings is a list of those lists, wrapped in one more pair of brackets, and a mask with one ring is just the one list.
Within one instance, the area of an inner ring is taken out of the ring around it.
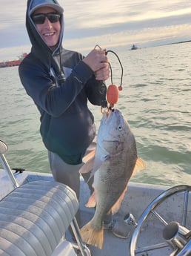
{"label": "shiny metal boat steering wheel in the lower right corner", "polygon": [[[191,228],[189,196],[191,186],[175,186],[162,192],[153,200],[141,214],[137,226],[130,240],[130,256],[141,255],[177,255],[172,252],[172,246],[163,237],[164,228],[175,222],[187,228]],[[173,214],[173,215],[172,215]],[[171,219],[171,220],[170,220]],[[157,224],[157,225],[156,225]],[[187,225],[190,225],[187,227]],[[154,231],[154,232],[153,232]],[[152,243],[152,244],[150,244]],[[152,252],[153,251],[153,252]]]}

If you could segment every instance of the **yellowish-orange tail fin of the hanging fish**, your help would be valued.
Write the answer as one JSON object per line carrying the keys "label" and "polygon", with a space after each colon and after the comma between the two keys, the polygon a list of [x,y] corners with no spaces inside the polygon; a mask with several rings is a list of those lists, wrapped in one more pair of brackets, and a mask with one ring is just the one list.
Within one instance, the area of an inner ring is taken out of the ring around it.
{"label": "yellowish-orange tail fin of the hanging fish", "polygon": [[104,227],[101,226],[101,229],[96,230],[93,229],[91,225],[91,221],[83,226],[80,230],[81,238],[84,243],[91,244],[92,246],[96,246],[99,249],[102,249],[104,242]]}

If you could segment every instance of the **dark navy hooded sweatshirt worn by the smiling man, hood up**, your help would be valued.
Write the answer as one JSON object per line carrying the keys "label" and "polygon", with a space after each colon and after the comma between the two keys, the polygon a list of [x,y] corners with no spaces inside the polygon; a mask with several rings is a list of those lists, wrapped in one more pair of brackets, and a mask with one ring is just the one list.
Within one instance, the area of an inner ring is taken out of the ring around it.
{"label": "dark navy hooded sweatshirt worn by the smiling man, hood up", "polygon": [[[96,81],[83,56],[61,46],[64,17],[58,45],[48,47],[41,39],[30,11],[38,4],[58,4],[56,0],[28,0],[26,27],[31,52],[19,66],[21,83],[41,114],[41,137],[49,151],[66,163],[78,164],[96,135],[93,114],[87,99],[101,105],[101,81]],[[104,88],[105,90],[105,88]]]}

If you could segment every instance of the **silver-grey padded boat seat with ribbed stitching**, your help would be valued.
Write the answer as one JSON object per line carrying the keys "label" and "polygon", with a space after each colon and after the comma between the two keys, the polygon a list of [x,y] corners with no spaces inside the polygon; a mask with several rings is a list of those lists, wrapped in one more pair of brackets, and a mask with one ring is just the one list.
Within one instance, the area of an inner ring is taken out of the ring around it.
{"label": "silver-grey padded boat seat with ribbed stitching", "polygon": [[49,256],[78,211],[76,193],[56,181],[26,183],[0,201],[0,255]]}

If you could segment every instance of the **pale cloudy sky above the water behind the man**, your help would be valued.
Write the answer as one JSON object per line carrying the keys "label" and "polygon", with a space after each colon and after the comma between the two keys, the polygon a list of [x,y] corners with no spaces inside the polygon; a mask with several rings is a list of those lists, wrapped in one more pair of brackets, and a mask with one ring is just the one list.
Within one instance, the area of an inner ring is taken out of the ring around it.
{"label": "pale cloudy sky above the water behind the man", "polygon": [[[25,28],[27,0],[0,0],[0,62],[30,52]],[[64,7],[63,46],[86,53],[155,47],[191,40],[191,1],[60,0]]]}

